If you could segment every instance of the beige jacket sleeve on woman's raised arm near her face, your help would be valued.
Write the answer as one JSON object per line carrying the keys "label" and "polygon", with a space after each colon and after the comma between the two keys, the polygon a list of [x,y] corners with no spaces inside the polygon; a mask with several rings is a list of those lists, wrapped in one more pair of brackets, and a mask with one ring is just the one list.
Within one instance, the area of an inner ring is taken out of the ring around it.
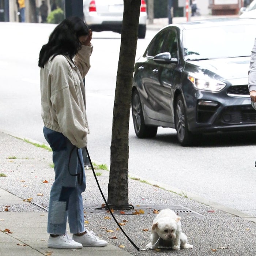
{"label": "beige jacket sleeve on woman's raised arm near her face", "polygon": [[76,53],[74,56],[74,63],[76,67],[78,67],[80,74],[82,78],[86,76],[88,73],[91,64],[90,64],[90,56],[91,53],[93,52],[93,45],[91,44],[90,46],[82,45],[82,49]]}

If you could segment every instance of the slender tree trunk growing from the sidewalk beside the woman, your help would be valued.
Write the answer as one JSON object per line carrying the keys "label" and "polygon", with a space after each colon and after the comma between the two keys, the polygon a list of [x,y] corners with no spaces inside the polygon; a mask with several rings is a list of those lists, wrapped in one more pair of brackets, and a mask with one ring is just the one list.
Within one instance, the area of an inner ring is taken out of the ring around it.
{"label": "slender tree trunk growing from the sidewalk beside the woman", "polygon": [[124,0],[123,26],[113,109],[108,204],[128,205],[129,117],[133,68],[138,40],[140,0]]}

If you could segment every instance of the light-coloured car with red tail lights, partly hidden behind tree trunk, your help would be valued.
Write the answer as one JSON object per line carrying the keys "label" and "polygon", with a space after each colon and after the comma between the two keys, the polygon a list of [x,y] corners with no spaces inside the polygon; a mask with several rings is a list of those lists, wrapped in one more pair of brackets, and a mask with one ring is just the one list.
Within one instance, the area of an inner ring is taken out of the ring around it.
{"label": "light-coloured car with red tail lights, partly hidden behind tree trunk", "polygon": [[[121,33],[123,0],[84,0],[84,21],[93,31]],[[138,38],[145,38],[147,21],[146,1],[141,0]]]}

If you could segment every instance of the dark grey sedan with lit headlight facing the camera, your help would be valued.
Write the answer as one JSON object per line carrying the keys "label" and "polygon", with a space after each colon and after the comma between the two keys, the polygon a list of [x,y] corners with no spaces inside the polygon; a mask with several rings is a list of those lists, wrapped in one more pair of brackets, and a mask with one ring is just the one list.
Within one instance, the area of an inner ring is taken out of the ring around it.
{"label": "dark grey sedan with lit headlight facing the camera", "polygon": [[248,68],[256,19],[167,25],[136,61],[132,117],[139,138],[175,128],[182,146],[215,131],[256,129]]}

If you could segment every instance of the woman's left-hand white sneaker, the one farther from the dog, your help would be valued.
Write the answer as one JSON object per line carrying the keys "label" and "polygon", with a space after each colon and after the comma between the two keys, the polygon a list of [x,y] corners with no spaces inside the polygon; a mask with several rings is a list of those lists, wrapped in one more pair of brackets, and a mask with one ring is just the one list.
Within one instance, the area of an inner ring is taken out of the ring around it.
{"label": "woman's left-hand white sneaker, the one farther from the dog", "polygon": [[67,234],[59,235],[57,237],[50,236],[48,239],[48,248],[58,249],[82,249],[83,245],[75,242]]}

